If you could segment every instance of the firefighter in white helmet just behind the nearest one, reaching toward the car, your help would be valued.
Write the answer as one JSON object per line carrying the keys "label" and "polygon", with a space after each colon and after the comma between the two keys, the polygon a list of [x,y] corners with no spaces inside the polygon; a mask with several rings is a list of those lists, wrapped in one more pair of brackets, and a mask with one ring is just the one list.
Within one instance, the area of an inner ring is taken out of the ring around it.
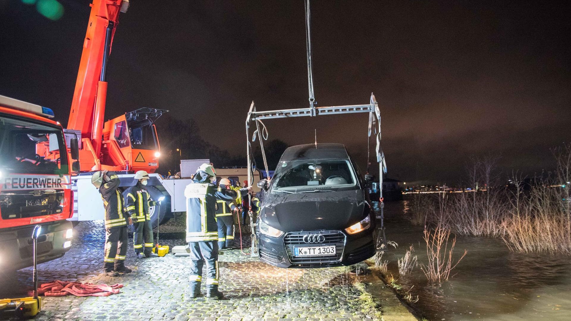
{"label": "firefighter in white helmet just behind the nearest one, reaching toward the car", "polygon": [[[234,190],[236,191],[236,199],[242,199],[242,192],[247,192],[247,188],[236,189],[232,187],[232,182],[230,179],[223,178],[220,180],[218,186],[218,191],[222,190]],[[231,248],[234,246],[234,217],[232,217],[232,212],[238,210],[235,202],[236,199],[232,201],[217,200],[216,201],[216,223],[218,223],[218,248]]]}

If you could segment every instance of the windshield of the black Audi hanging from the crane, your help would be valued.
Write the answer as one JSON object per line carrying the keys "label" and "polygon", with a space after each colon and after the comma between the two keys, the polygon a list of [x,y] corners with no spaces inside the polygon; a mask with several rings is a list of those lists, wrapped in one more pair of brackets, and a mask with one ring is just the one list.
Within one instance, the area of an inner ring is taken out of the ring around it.
{"label": "windshield of the black Audi hanging from the crane", "polygon": [[293,160],[281,162],[274,174],[272,191],[320,192],[357,187],[349,160]]}

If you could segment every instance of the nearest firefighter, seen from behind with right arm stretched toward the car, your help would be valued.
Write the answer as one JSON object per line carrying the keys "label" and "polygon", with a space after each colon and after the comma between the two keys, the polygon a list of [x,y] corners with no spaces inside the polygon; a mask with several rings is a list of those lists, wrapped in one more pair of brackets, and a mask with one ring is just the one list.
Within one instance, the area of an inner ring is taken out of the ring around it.
{"label": "nearest firefighter, seen from behind with right arm stretched toward the car", "polygon": [[[186,196],[186,241],[190,247],[190,269],[188,278],[192,298],[200,295],[202,267],[206,261],[206,296],[222,298],[218,291],[218,226],[216,224],[216,200],[232,202],[238,196],[236,191],[226,188],[218,189],[212,182],[216,181],[216,171],[211,164],[200,165],[193,178],[184,190]],[[248,190],[244,188],[244,190]]]}

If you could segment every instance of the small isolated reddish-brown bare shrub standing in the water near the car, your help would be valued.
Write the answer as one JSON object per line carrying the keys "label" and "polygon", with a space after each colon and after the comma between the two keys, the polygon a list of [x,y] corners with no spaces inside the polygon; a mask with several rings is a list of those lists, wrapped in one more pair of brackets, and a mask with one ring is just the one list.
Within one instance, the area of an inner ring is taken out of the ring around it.
{"label": "small isolated reddish-brown bare shrub standing in the water near the car", "polygon": [[466,256],[467,250],[464,254],[452,265],[453,251],[456,245],[456,236],[449,241],[451,236],[450,230],[438,224],[436,228],[428,230],[424,228],[424,240],[427,244],[428,263],[421,264],[420,268],[423,270],[424,275],[427,276],[429,282],[438,282],[448,280],[450,272],[455,268],[458,263]]}

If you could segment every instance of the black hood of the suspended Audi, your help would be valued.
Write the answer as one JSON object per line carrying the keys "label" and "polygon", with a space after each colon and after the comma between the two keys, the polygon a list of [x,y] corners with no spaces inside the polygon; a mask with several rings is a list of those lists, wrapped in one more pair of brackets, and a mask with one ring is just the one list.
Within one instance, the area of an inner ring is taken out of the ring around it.
{"label": "black hood of the suspended Audi", "polygon": [[344,230],[369,212],[363,190],[267,193],[260,219],[278,230]]}

